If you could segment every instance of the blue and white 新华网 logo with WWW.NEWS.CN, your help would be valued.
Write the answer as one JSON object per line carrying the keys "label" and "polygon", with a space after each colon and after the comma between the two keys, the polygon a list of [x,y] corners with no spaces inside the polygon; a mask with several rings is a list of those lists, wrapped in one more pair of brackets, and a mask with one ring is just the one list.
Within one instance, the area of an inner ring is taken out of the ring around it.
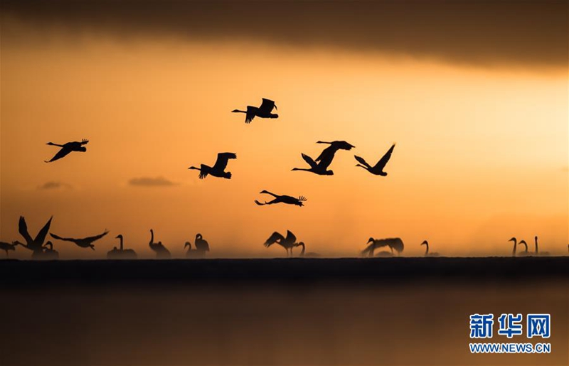
{"label": "blue and white \u65b0\u534e\u7f51 logo with WWW.NEWS.CN", "polygon": [[[550,314],[527,314],[523,323],[522,314],[504,313],[498,317],[498,335],[511,339],[523,335],[526,338],[549,338],[551,336]],[[489,339],[493,337],[494,314],[472,314],[470,316],[470,338]],[[472,353],[550,353],[551,343],[469,343]]]}

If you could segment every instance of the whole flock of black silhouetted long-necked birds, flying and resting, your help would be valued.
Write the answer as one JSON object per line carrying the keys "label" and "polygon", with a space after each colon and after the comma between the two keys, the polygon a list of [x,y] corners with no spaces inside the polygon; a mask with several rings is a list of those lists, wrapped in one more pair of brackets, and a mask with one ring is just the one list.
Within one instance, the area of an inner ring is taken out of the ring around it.
{"label": "whole flock of black silhouetted long-necked birds, flying and resting", "polygon": [[[277,106],[275,104],[275,102],[273,102],[270,99],[265,99],[262,98],[262,103],[260,105],[260,107],[253,107],[253,106],[247,106],[247,110],[243,111],[240,109],[233,109],[233,113],[244,113],[245,114],[245,124],[250,124],[252,122],[253,119],[255,119],[255,117],[259,117],[259,118],[270,118],[270,119],[275,119],[278,118],[279,115],[278,114],[274,114],[272,113],[273,109],[277,109]],[[86,139],[83,139],[82,141],[73,141],[73,142],[68,142],[66,144],[54,144],[53,142],[48,142],[47,144],[50,146],[58,146],[60,147],[60,150],[58,151],[57,154],[55,154],[55,156],[53,156],[53,158],[51,158],[50,160],[46,161],[46,163],[52,163],[53,161],[58,161],[61,158],[64,158],[65,156],[68,156],[68,154],[74,152],[74,151],[79,151],[79,152],[85,152],[87,151],[87,148],[85,147],[86,144],[88,144],[89,141]],[[314,174],[317,174],[319,176],[332,176],[334,175],[334,171],[331,171],[329,169],[329,166],[331,165],[332,161],[334,160],[334,156],[336,155],[336,152],[339,150],[351,150],[353,148],[355,148],[356,146],[353,146],[352,144],[349,144],[346,141],[317,141],[317,144],[327,144],[329,146],[327,146],[321,153],[320,155],[314,159],[310,156],[308,156],[307,154],[301,154],[302,158],[304,159],[304,161],[308,164],[308,168],[292,168],[292,171],[308,171]],[[356,161],[358,162],[356,164],[356,167],[361,167],[363,169],[366,169],[366,171],[368,171],[369,173],[376,175],[376,176],[387,176],[388,173],[385,172],[385,166],[387,165],[388,161],[391,158],[391,155],[393,154],[393,149],[395,149],[395,144],[393,144],[390,149],[388,149],[388,151],[383,154],[383,156],[379,159],[379,161],[371,166],[371,164],[369,164],[364,158],[362,158],[361,156],[357,156],[354,155],[354,158],[356,159]],[[199,171],[199,178],[200,179],[204,179],[207,176],[213,176],[216,178],[225,178],[225,179],[231,179],[231,172],[229,171],[225,171],[225,169],[228,166],[228,162],[231,159],[235,159],[237,158],[237,154],[235,153],[230,153],[230,152],[224,152],[224,153],[219,153],[217,156],[217,160],[216,163],[213,164],[213,166],[208,166],[206,164],[201,164],[198,167],[196,166],[190,166],[188,169],[193,169],[193,170],[197,170]],[[260,192],[261,194],[266,194],[266,195],[270,195],[272,196],[272,200],[270,201],[265,201],[265,202],[260,202],[259,200],[255,200],[255,203],[257,205],[275,205],[277,203],[284,203],[287,205],[297,205],[302,207],[304,205],[304,202],[307,201],[307,198],[305,198],[304,196],[300,196],[299,198],[296,197],[292,197],[291,195],[277,195],[275,193],[271,193],[268,190],[262,190]],[[31,235],[29,235],[28,233],[28,227],[26,225],[26,220],[24,219],[24,217],[20,217],[20,220],[18,222],[18,231],[20,233],[20,235],[23,237],[25,243],[22,242],[18,242],[17,240],[14,242],[0,242],[0,250],[4,250],[6,252],[6,257],[9,256],[9,251],[11,250],[15,250],[17,245],[21,245],[22,247],[29,249],[32,251],[32,258],[33,259],[57,259],[59,257],[58,252],[53,249],[53,242],[45,242],[46,237],[48,235],[49,229],[50,229],[50,225],[51,225],[51,218],[50,220],[48,220],[48,222],[46,223],[46,225],[43,226],[43,228],[38,232],[38,235],[36,235],[35,238],[32,238]],[[53,239],[57,239],[63,242],[73,242],[74,244],[76,244],[78,247],[81,248],[90,248],[92,250],[95,250],[95,245],[93,244],[93,242],[101,239],[102,237],[105,237],[105,235],[107,235],[109,232],[107,230],[105,230],[105,232],[103,232],[100,235],[95,235],[95,236],[91,236],[91,237],[84,237],[84,238],[80,238],[80,239],[76,239],[73,237],[60,237],[59,235],[55,235],[53,233],[49,233],[50,236]],[[171,257],[171,253],[169,252],[169,250],[164,246],[164,244],[162,244],[162,242],[154,242],[154,230],[150,230],[150,242],[149,242],[149,247],[151,250],[153,250],[156,253],[156,258],[159,259],[168,259]],[[119,239],[119,247],[114,247],[112,250],[110,250],[109,252],[107,252],[107,258],[108,259],[136,259],[137,258],[137,253],[134,252],[133,249],[124,249],[124,245],[123,245],[123,236],[122,235],[117,235],[116,239]],[[542,252],[539,253],[538,252],[538,238],[535,237],[535,241],[536,241],[536,251],[535,253],[533,253],[534,255],[547,255],[546,253]],[[516,247],[518,244],[523,244],[526,248],[525,252],[521,252],[518,253],[518,256],[526,256],[526,255],[532,255],[532,253],[528,252],[528,245],[524,240],[521,240],[519,243],[517,242],[516,238],[513,237],[510,239],[510,241],[514,242],[514,250],[513,250],[513,255],[516,256]],[[44,244],[45,242],[45,244]],[[285,237],[284,235],[280,234],[279,232],[273,232],[272,235],[265,241],[265,247],[271,247],[273,244],[278,244],[281,247],[283,247],[286,252],[287,252],[287,256],[292,257],[292,249],[296,248],[296,247],[302,247],[302,251],[300,253],[301,257],[319,257],[319,254],[317,253],[313,253],[313,252],[309,252],[306,253],[305,249],[306,249],[306,245],[304,244],[304,242],[297,242],[297,237],[290,231],[287,230],[287,236]],[[403,252],[404,249],[404,245],[403,245],[403,240],[401,240],[400,238],[387,238],[387,239],[374,239],[373,237],[370,237],[367,243],[367,247],[365,249],[363,249],[363,251],[361,252],[361,254],[363,256],[367,256],[367,257],[392,257],[394,255],[394,251],[399,255],[401,252]],[[435,253],[435,252],[429,252],[429,242],[427,242],[427,240],[423,241],[421,243],[421,245],[425,245],[425,257],[437,257],[439,254]],[[187,252],[186,252],[186,257],[193,257],[193,258],[199,258],[199,257],[203,257],[206,252],[209,252],[209,244],[208,242],[203,239],[201,234],[196,235],[196,239],[194,242],[194,247],[192,249],[191,247],[191,242],[186,242],[184,244],[184,248],[188,248]],[[381,252],[378,252],[377,254],[375,253],[376,249],[382,248],[382,247],[387,247],[390,249],[390,251],[385,251],[382,250]],[[569,246],[568,246],[569,249]]]}

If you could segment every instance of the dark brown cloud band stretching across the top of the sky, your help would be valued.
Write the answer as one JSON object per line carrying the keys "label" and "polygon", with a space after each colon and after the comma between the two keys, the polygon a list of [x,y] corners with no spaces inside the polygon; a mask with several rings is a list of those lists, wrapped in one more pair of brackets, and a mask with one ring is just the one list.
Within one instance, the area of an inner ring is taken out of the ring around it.
{"label": "dark brown cloud band stretching across the top of the sky", "polygon": [[[429,57],[450,63],[567,68],[565,0],[4,1],[42,31],[263,41]],[[3,43],[21,42],[4,22]]]}

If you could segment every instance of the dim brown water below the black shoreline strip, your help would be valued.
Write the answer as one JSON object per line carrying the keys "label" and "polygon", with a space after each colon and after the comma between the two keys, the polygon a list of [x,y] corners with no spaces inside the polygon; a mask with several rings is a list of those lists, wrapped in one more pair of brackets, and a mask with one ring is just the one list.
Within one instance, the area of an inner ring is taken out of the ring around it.
{"label": "dim brown water below the black shoreline strip", "polygon": [[[567,285],[2,290],[0,363],[568,365]],[[552,316],[551,355],[469,354],[471,313],[541,312]]]}

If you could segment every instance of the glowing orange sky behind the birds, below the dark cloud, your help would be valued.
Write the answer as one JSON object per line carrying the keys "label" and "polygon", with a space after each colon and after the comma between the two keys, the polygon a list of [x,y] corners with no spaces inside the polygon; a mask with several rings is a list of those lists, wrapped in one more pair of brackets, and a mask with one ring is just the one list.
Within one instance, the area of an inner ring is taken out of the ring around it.
{"label": "glowing orange sky behind the birds, below the dark cloud", "polygon": [[[230,113],[261,97],[279,119]],[[55,242],[63,258],[103,257],[119,233],[151,257],[150,228],[179,255],[201,232],[217,257],[280,256],[262,242],[287,229],[330,255],[356,255],[371,236],[401,237],[408,256],[423,239],[447,255],[509,255],[512,236],[538,235],[552,253],[569,242],[566,69],[51,33],[3,43],[0,123],[2,241],[21,240],[19,215],[32,235],[50,215],[58,235],[111,230],[94,254]],[[57,151],[46,142],[83,138],[87,153],[43,163]],[[290,171],[335,139],[356,149],[336,154],[334,176]],[[355,167],[353,154],[375,162],[393,142],[387,177]],[[238,154],[230,181],[187,170],[220,151]],[[157,177],[173,184],[129,184]],[[308,201],[257,207],[262,189]]]}

